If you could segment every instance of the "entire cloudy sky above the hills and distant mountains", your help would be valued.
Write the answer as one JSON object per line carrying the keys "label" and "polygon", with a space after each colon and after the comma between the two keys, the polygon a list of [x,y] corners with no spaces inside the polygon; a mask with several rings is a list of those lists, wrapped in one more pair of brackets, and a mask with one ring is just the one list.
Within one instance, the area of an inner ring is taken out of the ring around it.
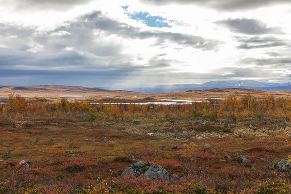
{"label": "entire cloudy sky above the hills and distant mountains", "polygon": [[291,0],[0,0],[0,85],[286,82]]}

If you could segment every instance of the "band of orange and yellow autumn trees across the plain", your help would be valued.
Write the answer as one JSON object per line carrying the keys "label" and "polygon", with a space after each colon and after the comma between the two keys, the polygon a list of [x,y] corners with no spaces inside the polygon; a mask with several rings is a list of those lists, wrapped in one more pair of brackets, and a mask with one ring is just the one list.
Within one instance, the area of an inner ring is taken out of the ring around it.
{"label": "band of orange and yellow autumn trees across the plain", "polygon": [[25,97],[10,94],[7,104],[0,104],[2,121],[13,123],[23,119],[75,118],[94,122],[96,119],[132,120],[148,118],[153,121],[177,119],[246,120],[254,118],[283,118],[289,120],[291,99],[266,95],[257,99],[251,94],[237,97],[228,95],[221,103],[193,102],[177,105],[141,104],[89,104],[81,101],[70,102],[62,98],[59,102],[27,102]]}

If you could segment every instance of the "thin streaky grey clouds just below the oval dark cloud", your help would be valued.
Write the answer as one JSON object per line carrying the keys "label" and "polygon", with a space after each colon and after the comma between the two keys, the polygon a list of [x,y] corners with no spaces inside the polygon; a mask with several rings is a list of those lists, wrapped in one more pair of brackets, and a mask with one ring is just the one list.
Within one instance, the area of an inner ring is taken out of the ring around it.
{"label": "thin streaky grey clouds just below the oval dark cloud", "polygon": [[238,49],[261,49],[272,47],[289,47],[290,40],[282,40],[274,36],[253,36],[253,37],[237,37],[237,41],[241,43]]}

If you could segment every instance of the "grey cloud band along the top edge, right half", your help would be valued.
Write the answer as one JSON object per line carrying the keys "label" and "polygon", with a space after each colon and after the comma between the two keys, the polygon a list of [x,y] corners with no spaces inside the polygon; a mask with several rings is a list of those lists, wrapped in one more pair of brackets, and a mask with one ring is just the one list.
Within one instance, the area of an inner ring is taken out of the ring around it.
{"label": "grey cloud band along the top edge, right half", "polygon": [[142,0],[146,3],[158,5],[177,3],[177,4],[194,4],[202,7],[224,11],[236,11],[245,9],[256,9],[275,4],[290,4],[290,0]]}

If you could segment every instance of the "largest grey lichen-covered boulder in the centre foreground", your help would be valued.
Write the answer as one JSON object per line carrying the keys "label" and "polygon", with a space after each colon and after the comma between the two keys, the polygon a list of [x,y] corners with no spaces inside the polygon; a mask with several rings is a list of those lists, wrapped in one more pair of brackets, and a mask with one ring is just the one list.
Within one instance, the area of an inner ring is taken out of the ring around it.
{"label": "largest grey lichen-covered boulder in the centre foreground", "polygon": [[162,166],[153,163],[140,161],[135,164],[130,165],[122,174],[121,178],[126,178],[126,176],[139,177],[145,176],[146,178],[156,179],[164,178],[169,179],[169,173],[162,168]]}

